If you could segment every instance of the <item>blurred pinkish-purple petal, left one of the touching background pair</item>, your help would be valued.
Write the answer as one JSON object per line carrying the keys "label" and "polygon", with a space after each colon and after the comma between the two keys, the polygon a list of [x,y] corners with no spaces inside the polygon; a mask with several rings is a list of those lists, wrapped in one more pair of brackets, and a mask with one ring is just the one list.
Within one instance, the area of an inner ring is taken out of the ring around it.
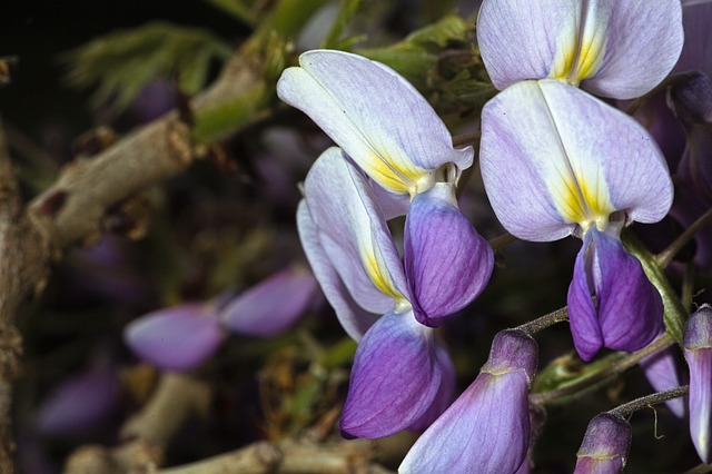
{"label": "blurred pinkish-purple petal, left one of the touching background pair", "polygon": [[141,359],[168,371],[189,371],[222,343],[220,320],[208,305],[187,304],[149,313],[125,329],[123,339]]}

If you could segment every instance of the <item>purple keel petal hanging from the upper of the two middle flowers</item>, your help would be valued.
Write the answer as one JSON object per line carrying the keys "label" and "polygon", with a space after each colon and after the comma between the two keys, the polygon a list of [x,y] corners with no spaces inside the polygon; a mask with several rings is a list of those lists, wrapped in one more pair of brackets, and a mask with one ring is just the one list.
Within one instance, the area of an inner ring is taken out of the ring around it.
{"label": "purple keel petal hanging from the upper of the two middle flowers", "polygon": [[418,194],[405,220],[405,271],[415,317],[436,327],[490,282],[494,253],[463,216],[452,184]]}

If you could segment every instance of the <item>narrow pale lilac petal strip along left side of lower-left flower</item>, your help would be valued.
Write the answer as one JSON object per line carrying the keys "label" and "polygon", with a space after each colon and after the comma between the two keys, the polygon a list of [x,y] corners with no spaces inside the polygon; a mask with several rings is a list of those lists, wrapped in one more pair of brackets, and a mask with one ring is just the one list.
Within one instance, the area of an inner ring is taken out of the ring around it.
{"label": "narrow pale lilac petal strip along left side of lower-left flower", "polygon": [[297,208],[297,228],[299,229],[304,253],[307,255],[314,276],[319,282],[326,299],[336,312],[336,316],[346,334],[355,340],[359,340],[376,322],[376,317],[374,314],[362,309],[348,293],[348,289],[346,289],[344,282],[334,268],[334,264],[322,248],[318,230],[312,220],[309,209],[304,199]]}

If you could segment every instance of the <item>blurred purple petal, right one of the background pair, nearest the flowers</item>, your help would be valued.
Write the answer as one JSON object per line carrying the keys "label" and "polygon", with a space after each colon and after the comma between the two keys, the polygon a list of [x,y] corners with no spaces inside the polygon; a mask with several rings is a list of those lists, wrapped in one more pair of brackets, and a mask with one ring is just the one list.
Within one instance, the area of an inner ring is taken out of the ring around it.
{"label": "blurred purple petal, right one of the background pair, nearest the flowers", "polygon": [[225,327],[246,336],[271,337],[291,327],[314,303],[314,276],[288,267],[247,289],[220,310]]}

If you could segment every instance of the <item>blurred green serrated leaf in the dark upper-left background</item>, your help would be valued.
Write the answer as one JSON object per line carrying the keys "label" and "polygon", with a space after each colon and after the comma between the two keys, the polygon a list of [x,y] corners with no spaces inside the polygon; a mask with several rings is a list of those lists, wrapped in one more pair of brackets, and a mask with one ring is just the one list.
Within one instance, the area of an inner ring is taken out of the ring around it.
{"label": "blurred green serrated leaf in the dark upper-left background", "polygon": [[96,87],[95,107],[110,102],[123,110],[154,79],[178,79],[186,93],[196,93],[214,59],[225,60],[231,48],[206,30],[154,22],[99,37],[60,56],[77,88]]}

